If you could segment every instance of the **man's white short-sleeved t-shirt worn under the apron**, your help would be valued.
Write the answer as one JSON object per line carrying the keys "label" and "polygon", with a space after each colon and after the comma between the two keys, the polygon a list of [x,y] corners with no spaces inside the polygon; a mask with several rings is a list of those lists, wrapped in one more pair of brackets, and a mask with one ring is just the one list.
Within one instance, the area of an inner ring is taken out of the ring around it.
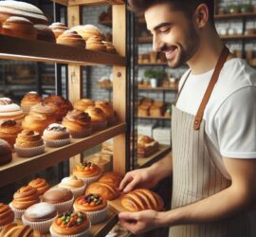
{"label": "man's white short-sleeved t-shirt worn under the apron", "polygon": [[[196,115],[213,69],[190,75],[185,83],[177,108]],[[179,82],[185,81],[186,72]],[[204,112],[205,132],[210,155],[226,176],[222,156],[256,158],[256,70],[242,59],[231,59],[224,65]]]}

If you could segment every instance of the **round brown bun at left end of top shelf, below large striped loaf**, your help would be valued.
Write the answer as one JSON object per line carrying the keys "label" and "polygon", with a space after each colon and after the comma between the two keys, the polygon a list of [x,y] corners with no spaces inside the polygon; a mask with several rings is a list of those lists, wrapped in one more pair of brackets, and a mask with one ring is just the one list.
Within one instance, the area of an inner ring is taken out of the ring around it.
{"label": "round brown bun at left end of top shelf, below large striped loaf", "polygon": [[10,16],[3,23],[1,33],[12,37],[36,40],[35,27],[24,17]]}

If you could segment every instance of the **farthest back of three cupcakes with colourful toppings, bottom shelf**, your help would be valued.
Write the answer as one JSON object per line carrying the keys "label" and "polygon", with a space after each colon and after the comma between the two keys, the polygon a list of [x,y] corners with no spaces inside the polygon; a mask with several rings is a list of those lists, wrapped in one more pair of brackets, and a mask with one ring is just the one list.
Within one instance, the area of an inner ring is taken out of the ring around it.
{"label": "farthest back of three cupcakes with colourful toppings, bottom shelf", "polygon": [[101,169],[98,165],[91,162],[82,162],[73,170],[73,175],[81,178],[82,181],[87,185],[92,182],[96,182],[101,176]]}

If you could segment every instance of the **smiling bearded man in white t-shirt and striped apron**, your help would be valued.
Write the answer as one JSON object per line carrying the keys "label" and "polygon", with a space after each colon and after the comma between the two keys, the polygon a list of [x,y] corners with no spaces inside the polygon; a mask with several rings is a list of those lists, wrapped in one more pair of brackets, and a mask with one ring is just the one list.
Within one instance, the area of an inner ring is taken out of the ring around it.
{"label": "smiling bearded man in white t-shirt and striped apron", "polygon": [[234,58],[214,27],[213,0],[131,0],[155,51],[188,64],[173,108],[173,154],[127,173],[120,190],[153,188],[173,175],[172,210],[119,213],[133,233],[170,227],[172,237],[250,236],[256,203],[256,72]]}

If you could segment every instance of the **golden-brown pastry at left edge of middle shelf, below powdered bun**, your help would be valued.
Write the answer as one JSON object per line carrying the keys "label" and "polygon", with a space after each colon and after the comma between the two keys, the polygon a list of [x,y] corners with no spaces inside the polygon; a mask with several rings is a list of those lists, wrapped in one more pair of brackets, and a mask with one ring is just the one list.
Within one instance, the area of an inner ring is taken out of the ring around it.
{"label": "golden-brown pastry at left edge of middle shelf, below powdered bun", "polygon": [[13,119],[0,121],[0,138],[6,140],[13,148],[16,137],[22,132],[22,127]]}

